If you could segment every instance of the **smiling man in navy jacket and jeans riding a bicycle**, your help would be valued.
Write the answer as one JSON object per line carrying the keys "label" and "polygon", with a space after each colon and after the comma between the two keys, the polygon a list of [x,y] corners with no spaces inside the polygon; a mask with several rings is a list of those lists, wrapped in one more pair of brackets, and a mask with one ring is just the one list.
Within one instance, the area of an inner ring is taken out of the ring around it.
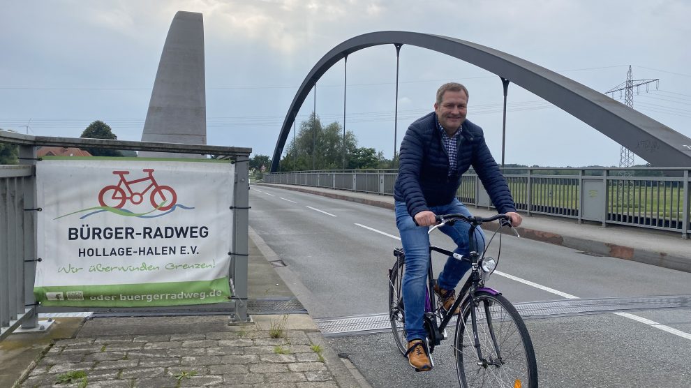
{"label": "smiling man in navy jacket and jeans riding a bicycle", "polygon": [[[408,361],[417,371],[432,368],[423,327],[425,283],[429,263],[429,234],[436,214],[461,213],[470,216],[456,199],[461,175],[470,165],[480,177],[499,213],[521,224],[509,186],[484,141],[482,128],[466,120],[468,89],[454,82],[437,91],[434,112],[410,124],[401,142],[399,175],[394,186],[396,227],[406,254],[403,275],[403,308],[406,311]],[[445,225],[440,230],[454,240],[454,252],[468,255],[467,223]],[[484,241],[482,230],[476,237]],[[440,304],[453,306],[458,285],[470,264],[449,256],[434,285]],[[458,314],[459,311],[454,311]]]}

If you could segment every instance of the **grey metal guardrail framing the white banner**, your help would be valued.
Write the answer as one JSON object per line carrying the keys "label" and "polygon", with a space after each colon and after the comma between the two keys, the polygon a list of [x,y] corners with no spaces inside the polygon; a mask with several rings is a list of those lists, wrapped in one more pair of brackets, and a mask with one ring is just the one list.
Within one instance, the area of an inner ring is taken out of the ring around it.
{"label": "grey metal guardrail framing the white banner", "polygon": [[[234,318],[247,319],[248,260],[248,163],[252,149],[200,144],[130,142],[122,140],[30,136],[0,130],[0,142],[19,146],[20,165],[0,165],[0,341],[17,327],[38,327],[38,313],[53,311],[98,311],[99,308],[44,308],[36,305],[37,231],[36,149],[40,146],[161,151],[180,154],[212,154],[235,161],[232,258],[229,276]],[[190,311],[195,306],[189,306]],[[101,308],[100,310],[103,310]],[[165,308],[158,308],[165,310]],[[178,308],[179,310],[179,308]],[[117,311],[117,308],[107,308]]]}

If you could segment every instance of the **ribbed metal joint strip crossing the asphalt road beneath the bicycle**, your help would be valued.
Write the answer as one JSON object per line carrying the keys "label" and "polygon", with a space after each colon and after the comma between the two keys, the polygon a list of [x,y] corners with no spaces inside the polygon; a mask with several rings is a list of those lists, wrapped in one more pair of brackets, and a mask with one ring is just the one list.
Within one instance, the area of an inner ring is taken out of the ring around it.
{"label": "ribbed metal joint strip crossing the asphalt road beneath the bicycle", "polygon": [[[523,318],[585,315],[625,310],[691,307],[691,295],[676,297],[624,297],[604,299],[567,299],[514,305]],[[388,314],[356,315],[341,318],[315,318],[324,336],[357,336],[391,330]],[[455,319],[452,320],[455,322]]]}

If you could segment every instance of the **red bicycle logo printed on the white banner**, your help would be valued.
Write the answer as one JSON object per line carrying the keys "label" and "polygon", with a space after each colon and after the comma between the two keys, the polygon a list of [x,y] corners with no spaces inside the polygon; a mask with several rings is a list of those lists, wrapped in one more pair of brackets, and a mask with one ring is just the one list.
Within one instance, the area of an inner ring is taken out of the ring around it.
{"label": "red bicycle logo printed on the white banner", "polygon": [[[144,168],[143,171],[147,172],[149,176],[142,179],[133,179],[131,181],[125,179],[125,175],[129,174],[129,171],[113,171],[113,174],[119,175],[120,181],[117,186],[110,185],[101,189],[101,192],[98,193],[98,202],[101,206],[120,209],[127,200],[133,204],[140,204],[144,200],[144,194],[153,188],[154,190],[151,191],[151,195],[149,196],[151,206],[158,210],[169,210],[174,207],[177,202],[177,194],[172,187],[159,185],[156,179],[154,179],[153,168]],[[143,191],[132,190],[130,185],[144,181],[151,181],[151,184]]]}

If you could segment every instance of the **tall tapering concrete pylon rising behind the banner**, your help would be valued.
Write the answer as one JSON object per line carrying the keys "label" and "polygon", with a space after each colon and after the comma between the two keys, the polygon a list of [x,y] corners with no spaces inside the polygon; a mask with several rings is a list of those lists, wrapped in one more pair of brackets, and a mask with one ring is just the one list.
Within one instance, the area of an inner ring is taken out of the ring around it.
{"label": "tall tapering concrete pylon rising behind the banner", "polygon": [[[144,142],[207,144],[204,21],[179,11],[165,38],[142,133]],[[140,157],[201,158],[193,154],[140,151]]]}

